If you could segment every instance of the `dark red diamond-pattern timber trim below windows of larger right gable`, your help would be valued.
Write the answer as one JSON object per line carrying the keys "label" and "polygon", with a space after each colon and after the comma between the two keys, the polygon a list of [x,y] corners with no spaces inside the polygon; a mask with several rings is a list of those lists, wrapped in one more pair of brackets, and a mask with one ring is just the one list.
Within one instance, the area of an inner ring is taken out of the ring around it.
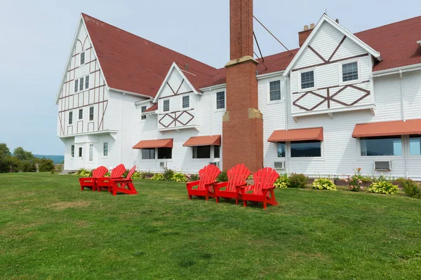
{"label": "dark red diamond-pattern timber trim below windows of larger right gable", "polygon": [[[363,82],[364,83],[364,82]],[[339,87],[339,86],[336,86],[336,87]],[[363,96],[361,96],[359,99],[356,99],[354,102],[352,102],[352,103],[350,103],[350,104],[347,104],[347,103],[345,103],[345,102],[342,102],[342,101],[339,101],[338,99],[335,99],[334,97],[337,97],[338,96],[338,94],[340,94],[340,92],[342,92],[342,91],[344,91],[345,89],[347,89],[348,87],[352,87],[352,88],[354,88],[355,90],[359,90],[359,91],[361,91],[361,92],[364,92],[365,94],[363,94]],[[295,101],[293,102],[293,105],[295,106],[295,107],[298,107],[298,108],[300,108],[300,109],[302,109],[302,110],[305,110],[305,111],[313,111],[314,109],[316,109],[317,107],[319,107],[319,106],[321,106],[321,104],[323,104],[323,103],[325,103],[325,102],[327,102],[327,106],[328,106],[328,109],[330,109],[330,102],[336,102],[336,103],[338,103],[338,104],[341,104],[342,106],[347,106],[347,107],[349,107],[349,106],[354,106],[355,104],[357,104],[358,102],[360,102],[361,100],[363,100],[363,99],[365,99],[366,97],[369,97],[370,96],[370,90],[364,90],[363,88],[361,88],[361,87],[357,87],[356,85],[344,85],[343,87],[341,87],[337,92],[335,92],[334,94],[332,94],[332,95],[330,95],[330,89],[332,89],[333,87],[325,87],[325,88],[323,88],[323,89],[319,89],[319,90],[326,90],[326,97],[324,97],[323,95],[321,95],[321,94],[318,94],[318,93],[316,93],[316,92],[314,92],[314,91],[309,91],[309,92],[305,92],[305,94],[302,94],[300,97],[298,97],[298,99],[295,99]],[[299,105],[298,104],[298,102],[301,100],[301,99],[303,99],[304,97],[306,97],[308,94],[312,94],[312,95],[314,95],[314,96],[316,96],[316,97],[319,97],[320,99],[321,99],[321,102],[319,102],[318,104],[316,104],[316,105],[314,105],[312,108],[310,108],[310,109],[308,109],[308,108],[306,108],[306,107],[304,107],[304,106],[301,106],[301,105]]]}

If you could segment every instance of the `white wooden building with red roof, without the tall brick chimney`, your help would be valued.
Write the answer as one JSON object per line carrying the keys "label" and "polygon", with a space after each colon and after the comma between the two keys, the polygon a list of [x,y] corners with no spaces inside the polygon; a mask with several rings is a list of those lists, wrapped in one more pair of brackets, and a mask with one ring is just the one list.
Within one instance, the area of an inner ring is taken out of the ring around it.
{"label": "white wooden building with red roof, without the tall brick chimney", "polygon": [[[421,17],[352,34],[323,15],[300,40],[256,59],[263,166],[421,180]],[[226,83],[226,68],[82,14],[55,99],[65,170],[228,169]]]}

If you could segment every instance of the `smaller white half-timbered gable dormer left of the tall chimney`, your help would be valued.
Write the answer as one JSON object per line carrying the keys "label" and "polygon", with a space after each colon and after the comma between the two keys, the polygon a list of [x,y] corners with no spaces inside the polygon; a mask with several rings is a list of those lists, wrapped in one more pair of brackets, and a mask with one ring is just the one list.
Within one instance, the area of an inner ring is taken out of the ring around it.
{"label": "smaller white half-timbered gable dormer left of the tall chimney", "polygon": [[[187,68],[187,67],[186,67]],[[154,103],[158,104],[158,130],[179,130],[196,127],[194,112],[196,95],[201,94],[187,79],[189,73],[184,72],[173,63],[168,75],[159,88]]]}

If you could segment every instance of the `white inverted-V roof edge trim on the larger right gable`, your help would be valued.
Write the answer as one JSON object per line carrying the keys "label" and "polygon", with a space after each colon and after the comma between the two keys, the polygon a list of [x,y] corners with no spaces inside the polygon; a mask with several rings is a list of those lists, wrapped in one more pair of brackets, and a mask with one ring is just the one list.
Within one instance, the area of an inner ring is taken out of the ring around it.
{"label": "white inverted-V roof edge trim on the larger right gable", "polygon": [[293,58],[293,60],[290,62],[288,67],[286,67],[285,72],[283,72],[283,76],[288,75],[290,70],[293,69],[293,66],[295,65],[295,62],[297,62],[297,60],[302,55],[302,52],[304,52],[305,48],[307,48],[307,46],[310,44],[310,42],[312,41],[312,38],[317,34],[317,31],[319,31],[321,25],[323,25],[323,22],[328,22],[330,25],[335,27],[335,29],[338,29],[338,31],[342,32],[342,34],[347,36],[347,38],[351,39],[352,41],[354,41],[354,43],[356,43],[361,48],[366,50],[366,52],[370,53],[370,55],[373,55],[373,57],[376,57],[379,61],[382,61],[382,57],[380,56],[380,52],[377,52],[376,50],[371,48],[370,45],[361,41],[361,39],[357,38],[354,34],[352,34],[347,29],[342,27],[342,25],[340,25],[338,22],[335,22],[335,20],[332,20],[331,18],[329,18],[328,15],[326,15],[326,13],[323,13],[319,22],[317,22],[316,27],[314,27],[314,29],[312,30],[312,33],[310,33],[310,35],[305,40],[304,44],[302,44],[300,50],[298,50],[298,52],[295,55],[295,57]]}

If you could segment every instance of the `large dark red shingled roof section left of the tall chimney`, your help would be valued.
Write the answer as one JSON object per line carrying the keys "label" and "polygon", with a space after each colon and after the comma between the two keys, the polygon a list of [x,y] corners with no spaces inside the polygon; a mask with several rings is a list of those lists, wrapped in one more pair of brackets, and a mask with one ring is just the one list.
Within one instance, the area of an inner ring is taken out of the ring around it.
{"label": "large dark red shingled roof section left of the tall chimney", "polygon": [[154,97],[175,62],[189,66],[189,81],[198,89],[216,70],[134,34],[82,14],[107,85],[117,90]]}

